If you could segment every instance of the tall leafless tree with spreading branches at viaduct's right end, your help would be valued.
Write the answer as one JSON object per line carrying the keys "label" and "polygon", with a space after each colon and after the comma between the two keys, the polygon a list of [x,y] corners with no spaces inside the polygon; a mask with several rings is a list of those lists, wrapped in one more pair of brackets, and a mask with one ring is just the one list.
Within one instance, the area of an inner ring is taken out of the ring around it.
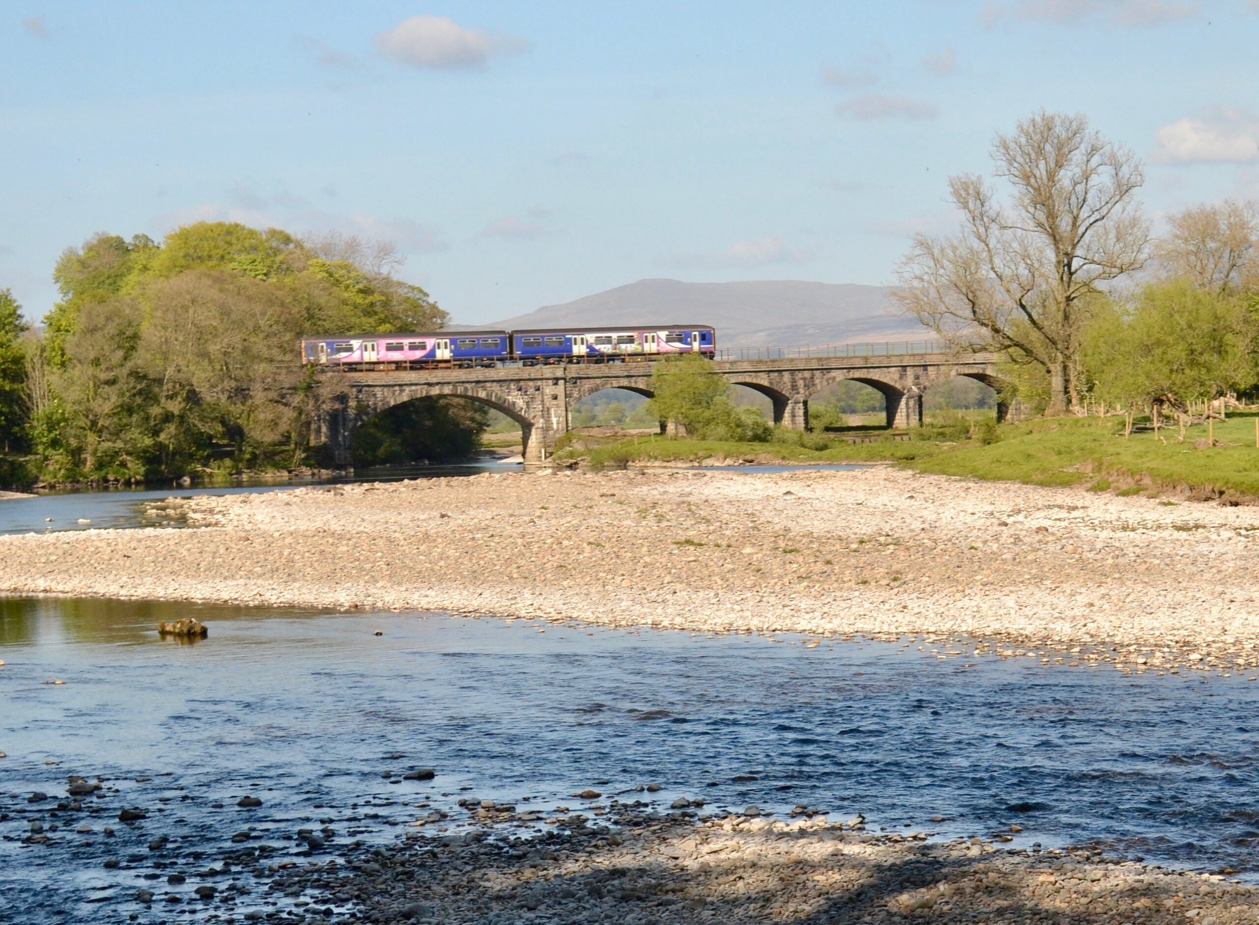
{"label": "tall leafless tree with spreading branches at viaduct's right end", "polygon": [[1146,261],[1149,224],[1136,200],[1144,172],[1083,116],[1049,112],[998,135],[991,156],[1007,201],[976,174],[949,177],[962,228],[914,239],[895,297],[959,347],[1044,369],[1046,413],[1060,414],[1078,404],[1088,300]]}

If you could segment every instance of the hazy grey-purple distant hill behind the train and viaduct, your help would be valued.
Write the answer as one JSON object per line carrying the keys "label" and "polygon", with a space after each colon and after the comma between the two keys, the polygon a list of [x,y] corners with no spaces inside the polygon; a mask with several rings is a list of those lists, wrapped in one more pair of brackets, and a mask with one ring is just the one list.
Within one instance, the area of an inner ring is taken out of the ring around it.
{"label": "hazy grey-purple distant hill behind the train and viaduct", "polygon": [[889,293],[885,286],[796,279],[740,283],[640,279],[485,327],[713,325],[719,347],[927,339],[927,328],[895,312]]}

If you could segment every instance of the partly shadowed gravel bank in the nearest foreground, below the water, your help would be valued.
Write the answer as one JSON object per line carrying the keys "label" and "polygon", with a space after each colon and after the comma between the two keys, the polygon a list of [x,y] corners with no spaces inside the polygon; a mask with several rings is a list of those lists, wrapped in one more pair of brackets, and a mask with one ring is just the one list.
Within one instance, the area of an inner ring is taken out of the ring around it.
{"label": "partly shadowed gravel bank in the nearest foreground, below the water", "polygon": [[[383,925],[922,919],[1225,925],[1259,915],[1259,890],[1251,886],[1105,862],[1083,849],[1011,852],[980,838],[928,843],[821,816],[660,817],[616,800],[603,809],[593,826],[577,816],[534,838],[492,829],[414,837],[397,851],[295,868],[272,889],[315,887],[308,911],[349,899],[368,921]],[[478,813],[486,816],[492,810]]]}

